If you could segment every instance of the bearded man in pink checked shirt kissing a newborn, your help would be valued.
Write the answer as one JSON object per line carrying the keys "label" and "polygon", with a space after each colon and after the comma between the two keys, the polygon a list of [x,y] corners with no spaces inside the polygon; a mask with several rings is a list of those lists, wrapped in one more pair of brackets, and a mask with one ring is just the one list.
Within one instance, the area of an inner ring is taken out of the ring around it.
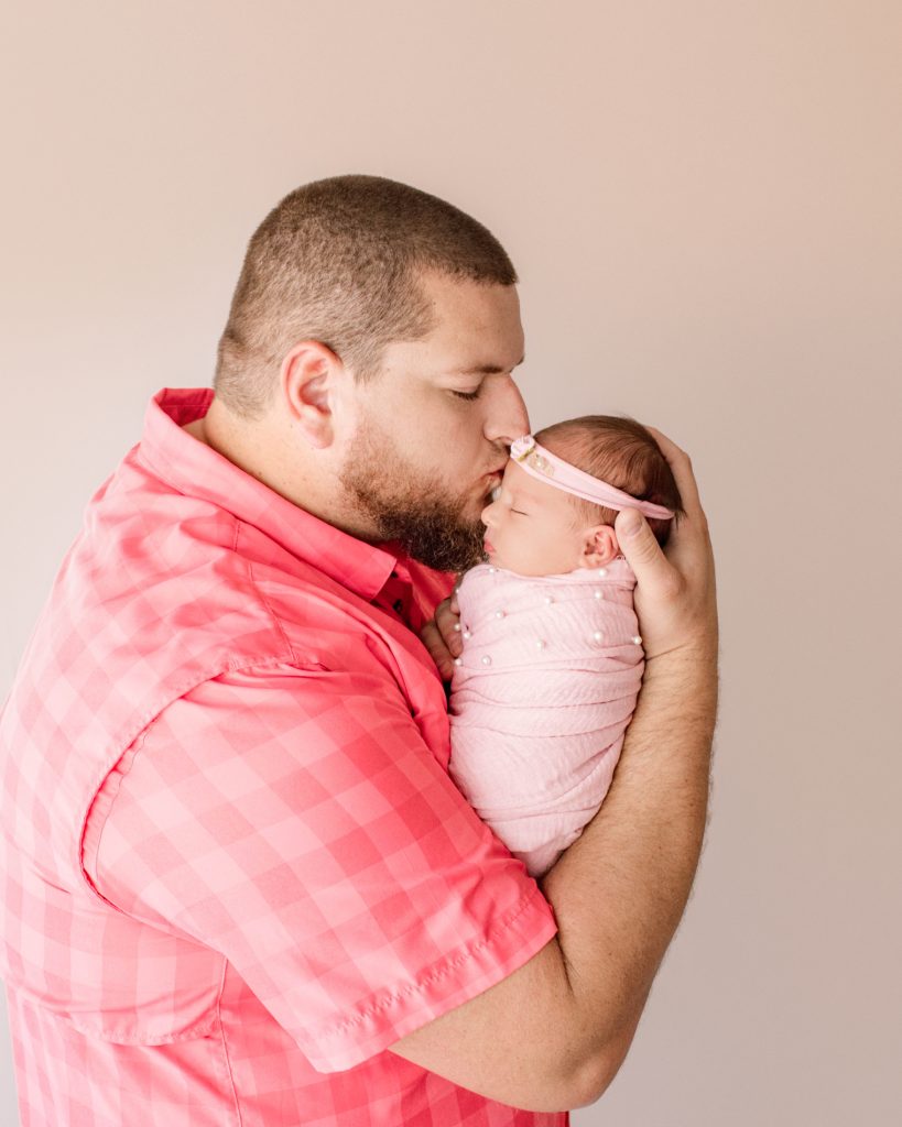
{"label": "bearded man in pink checked shirt kissing a newborn", "polygon": [[[700,849],[710,550],[662,437],[670,559],[617,525],[646,684],[539,890],[449,780],[417,637],[529,429],[515,281],[416,189],[298,189],[215,394],[158,396],[92,499],[0,726],[24,1124],[557,1125],[617,1072]],[[446,669],[446,600],[425,637]]]}

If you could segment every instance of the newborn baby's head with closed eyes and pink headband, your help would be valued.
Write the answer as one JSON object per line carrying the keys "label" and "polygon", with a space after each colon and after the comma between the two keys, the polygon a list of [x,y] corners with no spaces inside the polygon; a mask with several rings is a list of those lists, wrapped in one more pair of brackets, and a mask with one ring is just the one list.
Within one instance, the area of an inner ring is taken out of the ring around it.
{"label": "newborn baby's head with closed eyes and pink headband", "polygon": [[604,567],[620,553],[613,523],[630,502],[665,543],[672,524],[665,511],[682,509],[652,434],[609,415],[555,423],[514,443],[497,496],[483,511],[486,554],[518,575]]}

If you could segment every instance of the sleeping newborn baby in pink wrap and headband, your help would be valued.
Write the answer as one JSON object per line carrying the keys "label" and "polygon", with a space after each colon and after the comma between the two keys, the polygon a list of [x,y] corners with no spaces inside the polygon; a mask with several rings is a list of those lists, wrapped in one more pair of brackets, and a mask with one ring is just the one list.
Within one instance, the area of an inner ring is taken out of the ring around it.
{"label": "sleeping newborn baby in pink wrap and headband", "polygon": [[458,588],[450,771],[534,877],[601,805],[642,684],[617,511],[663,544],[680,504],[648,431],[592,415],[518,440],[483,513],[489,562]]}

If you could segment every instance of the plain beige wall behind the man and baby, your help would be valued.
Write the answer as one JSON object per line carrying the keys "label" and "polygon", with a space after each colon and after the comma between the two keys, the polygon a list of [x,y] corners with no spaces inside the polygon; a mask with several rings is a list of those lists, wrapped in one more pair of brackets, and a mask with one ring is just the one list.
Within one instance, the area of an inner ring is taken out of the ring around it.
{"label": "plain beige wall behind the man and baby", "polygon": [[445,196],[522,274],[533,423],[672,435],[719,564],[696,893],[574,1122],[902,1121],[897,0],[7,0],[0,42],[0,690],[147,398],[209,383],[265,211]]}

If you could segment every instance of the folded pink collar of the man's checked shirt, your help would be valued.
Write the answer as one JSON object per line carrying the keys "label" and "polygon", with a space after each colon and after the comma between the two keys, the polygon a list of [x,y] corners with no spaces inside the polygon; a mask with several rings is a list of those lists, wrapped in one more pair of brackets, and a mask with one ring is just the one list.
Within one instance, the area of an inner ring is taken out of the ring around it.
{"label": "folded pink collar of the man's checked shirt", "polygon": [[168,485],[265,533],[298,559],[370,602],[398,568],[398,556],[320,521],[182,429],[206,415],[212,388],[163,388],[144,417],[139,454]]}

